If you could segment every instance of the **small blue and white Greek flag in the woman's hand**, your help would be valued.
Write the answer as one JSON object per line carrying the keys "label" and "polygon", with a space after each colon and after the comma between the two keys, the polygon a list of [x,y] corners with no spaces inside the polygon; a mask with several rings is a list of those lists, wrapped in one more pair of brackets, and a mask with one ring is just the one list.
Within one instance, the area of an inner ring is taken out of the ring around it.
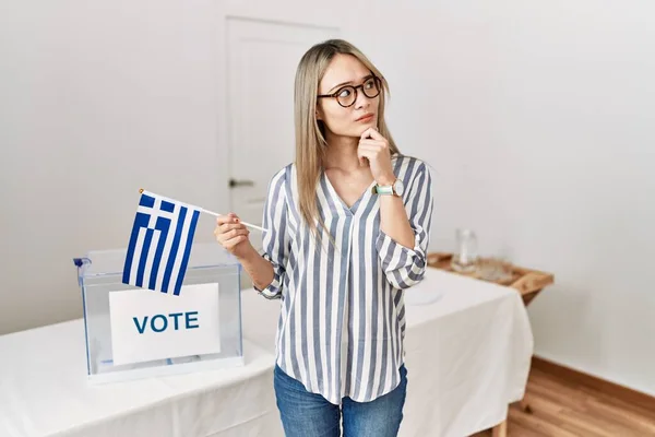
{"label": "small blue and white Greek flag in the woman's hand", "polygon": [[122,282],[179,295],[200,210],[142,191]]}

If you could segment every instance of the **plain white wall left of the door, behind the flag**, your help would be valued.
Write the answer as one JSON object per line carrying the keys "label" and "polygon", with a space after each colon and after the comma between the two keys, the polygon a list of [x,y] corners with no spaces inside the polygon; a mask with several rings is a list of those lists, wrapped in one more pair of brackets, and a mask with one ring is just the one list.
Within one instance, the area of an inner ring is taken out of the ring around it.
{"label": "plain white wall left of the door, behind the flag", "polygon": [[81,316],[72,258],[127,245],[139,188],[225,201],[212,4],[3,8],[0,333]]}

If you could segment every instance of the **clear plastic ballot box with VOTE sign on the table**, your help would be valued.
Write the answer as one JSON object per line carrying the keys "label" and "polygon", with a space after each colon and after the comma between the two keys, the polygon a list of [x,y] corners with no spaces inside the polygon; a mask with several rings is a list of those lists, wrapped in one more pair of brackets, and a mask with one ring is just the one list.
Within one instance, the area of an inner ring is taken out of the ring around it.
{"label": "clear plastic ballot box with VOTE sign on the table", "polygon": [[215,243],[193,244],[174,295],[124,284],[126,255],[127,249],[97,250],[73,260],[90,382],[243,365],[236,258]]}

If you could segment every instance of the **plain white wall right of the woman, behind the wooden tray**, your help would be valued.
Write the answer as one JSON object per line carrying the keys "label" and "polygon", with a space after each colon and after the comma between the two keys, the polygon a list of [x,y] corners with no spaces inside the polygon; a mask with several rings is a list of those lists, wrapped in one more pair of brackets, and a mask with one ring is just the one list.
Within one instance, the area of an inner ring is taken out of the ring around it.
{"label": "plain white wall right of the woman, behind the wooden tray", "polygon": [[[446,2],[361,35],[401,147],[437,169],[434,249],[556,274],[536,353],[655,394],[655,5]],[[374,44],[380,46],[373,47]]]}

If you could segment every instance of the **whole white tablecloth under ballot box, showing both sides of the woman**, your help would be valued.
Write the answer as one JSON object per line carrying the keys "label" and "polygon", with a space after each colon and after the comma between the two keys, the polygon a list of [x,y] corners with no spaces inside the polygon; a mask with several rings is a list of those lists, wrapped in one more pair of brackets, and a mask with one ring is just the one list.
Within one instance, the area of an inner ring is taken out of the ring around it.
{"label": "whole white tablecloth under ballot box, showing both sides of the woman", "polygon": [[[523,397],[533,338],[519,294],[430,269],[406,294],[402,436],[462,437]],[[243,291],[246,365],[90,387],[81,320],[0,336],[0,436],[282,436],[278,300]]]}

